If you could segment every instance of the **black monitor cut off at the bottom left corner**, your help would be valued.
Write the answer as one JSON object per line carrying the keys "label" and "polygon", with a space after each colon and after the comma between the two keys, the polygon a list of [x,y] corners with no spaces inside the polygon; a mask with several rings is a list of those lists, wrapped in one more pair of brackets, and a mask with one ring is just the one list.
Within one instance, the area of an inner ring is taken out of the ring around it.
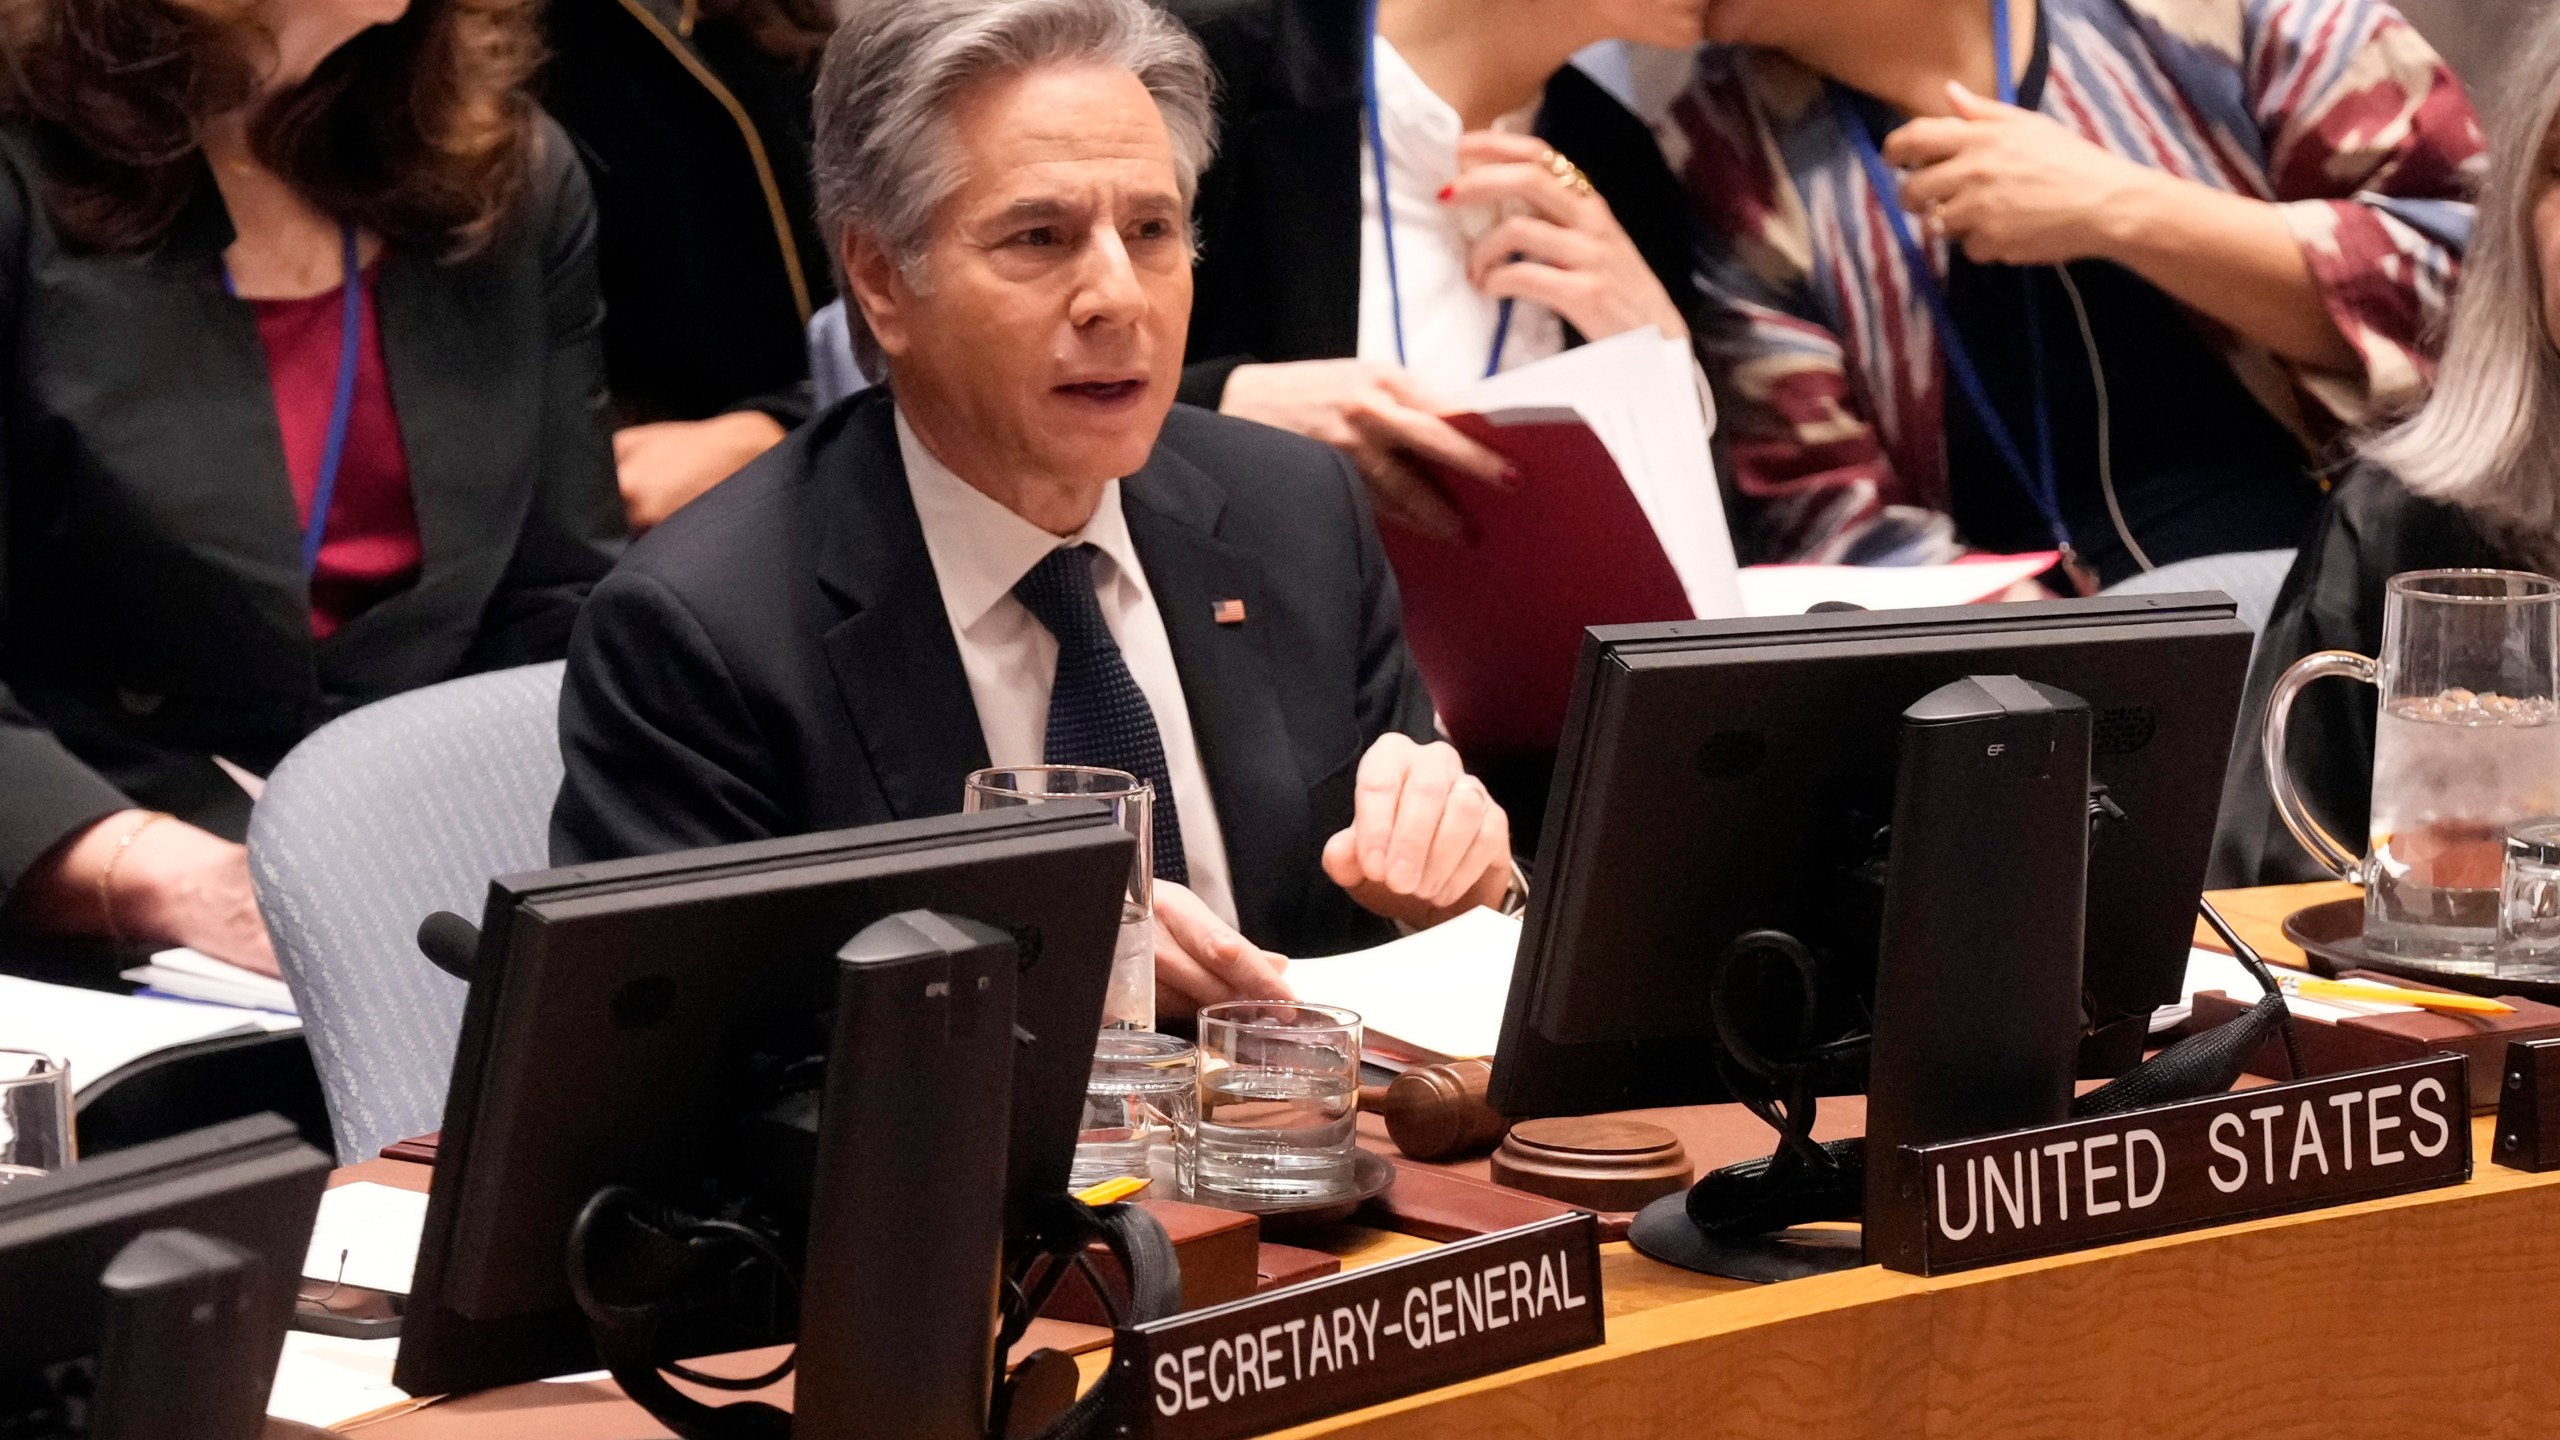
{"label": "black monitor cut off at the bottom left corner", "polygon": [[[0,1186],[0,1432],[20,1432],[13,1425],[44,1432],[28,1407],[84,1391],[108,1409],[120,1402],[128,1432],[161,1399],[192,1407],[192,1435],[253,1432],[328,1168],[330,1158],[305,1145],[292,1122],[253,1115]],[[228,1299],[228,1314],[182,1312],[156,1330],[159,1343],[138,1355],[141,1366],[115,1366],[105,1355],[118,1327],[131,1361],[133,1332],[156,1320],[148,1291],[166,1286],[154,1281],[187,1279],[179,1273],[187,1266],[166,1263],[166,1253],[159,1263],[125,1266],[118,1322],[108,1271],[154,1232],[184,1232],[169,1250],[223,1256],[200,1266],[200,1279],[212,1271],[210,1291]],[[102,1376],[102,1368],[115,1373]],[[169,1386],[154,1384],[161,1379],[184,1379],[195,1394],[164,1394]]]}

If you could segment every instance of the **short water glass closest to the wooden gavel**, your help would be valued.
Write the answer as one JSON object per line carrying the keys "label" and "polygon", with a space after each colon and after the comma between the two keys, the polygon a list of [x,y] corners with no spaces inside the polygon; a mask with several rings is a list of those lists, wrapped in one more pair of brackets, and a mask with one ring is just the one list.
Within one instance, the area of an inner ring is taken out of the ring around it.
{"label": "short water glass closest to the wooden gavel", "polygon": [[1349,1194],[1357,1109],[1359,1015],[1265,999],[1201,1010],[1201,1191]]}

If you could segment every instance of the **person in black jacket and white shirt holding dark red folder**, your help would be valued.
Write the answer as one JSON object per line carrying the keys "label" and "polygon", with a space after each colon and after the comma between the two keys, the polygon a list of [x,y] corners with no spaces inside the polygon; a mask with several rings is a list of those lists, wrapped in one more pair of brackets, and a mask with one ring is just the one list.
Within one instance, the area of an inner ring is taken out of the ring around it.
{"label": "person in black jacket and white shirt holding dark red folder", "polygon": [[[1690,333],[1695,246],[1679,182],[1651,131],[1569,59],[1613,38],[1692,49],[1705,36],[1708,0],[1167,8],[1219,69],[1219,161],[1201,177],[1185,402],[1334,443],[1388,518],[1452,533],[1454,518],[1408,456],[1485,479],[1498,479],[1503,461],[1436,418],[1436,397],[1477,379],[1492,346],[1475,336],[1457,351],[1421,354],[1431,348],[1421,343],[1434,323],[1421,313],[1431,282],[1413,272],[1428,259],[1421,251],[1434,228],[1485,231],[1472,241],[1467,282],[1487,302],[1516,300],[1508,325],[1495,325],[1505,369],[1636,325]],[[1408,141],[1416,126],[1428,131],[1421,143]],[[1375,323],[1385,272],[1375,261],[1382,246],[1370,136],[1385,138],[1390,192],[1405,190],[1403,161],[1416,154],[1452,177],[1436,197],[1446,210],[1439,225],[1393,210],[1405,295],[1400,325],[1390,328]],[[1408,364],[1382,338],[1393,328],[1416,338]]]}

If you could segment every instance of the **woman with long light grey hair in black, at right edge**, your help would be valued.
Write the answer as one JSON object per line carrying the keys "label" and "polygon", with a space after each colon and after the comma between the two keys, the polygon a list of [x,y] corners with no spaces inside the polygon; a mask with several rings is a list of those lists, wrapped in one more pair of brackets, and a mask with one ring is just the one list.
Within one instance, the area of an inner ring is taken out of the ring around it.
{"label": "woman with long light grey hair in black, at right edge", "polygon": [[[2330,879],[2276,820],[2253,740],[2286,666],[2330,648],[2381,653],[2394,574],[2560,574],[2560,8],[2534,20],[2496,92],[2445,364],[2427,402],[2365,441],[2330,492],[2258,638],[2209,884]],[[2294,705],[2291,771],[2340,835],[2363,835],[2371,817],[2373,710],[2373,692],[2350,684],[2317,684]]]}

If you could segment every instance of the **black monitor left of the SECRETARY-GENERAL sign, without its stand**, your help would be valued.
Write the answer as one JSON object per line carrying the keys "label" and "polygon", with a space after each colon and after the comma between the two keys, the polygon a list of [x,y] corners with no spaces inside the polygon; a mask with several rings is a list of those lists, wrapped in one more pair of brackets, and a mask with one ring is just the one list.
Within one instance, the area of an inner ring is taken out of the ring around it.
{"label": "black monitor left of the SECRETARY-GENERAL sign, without its stand", "polygon": [[[737,1194],[742,1133],[773,1068],[824,1051],[840,951],[891,915],[1014,938],[1004,1184],[1009,1220],[1027,1222],[1034,1197],[1068,1191],[1132,863],[1101,805],[1055,802],[492,881],[397,1384],[445,1394],[594,1368],[566,1266],[581,1207],[604,1186],[694,1215],[771,1199]],[[786,1338],[714,1325],[681,1353]]]}

